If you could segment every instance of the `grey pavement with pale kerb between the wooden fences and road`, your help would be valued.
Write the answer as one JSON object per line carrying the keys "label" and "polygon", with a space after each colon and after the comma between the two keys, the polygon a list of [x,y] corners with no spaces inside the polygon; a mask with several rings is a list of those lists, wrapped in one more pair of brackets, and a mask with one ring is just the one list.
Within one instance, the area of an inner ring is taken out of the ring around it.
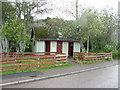
{"label": "grey pavement with pale kerb between the wooden fences and road", "polygon": [[71,60],[68,60],[68,62],[71,62],[74,65],[70,66],[70,67],[40,71],[40,73],[42,73],[42,74],[40,74],[40,75],[38,74],[37,76],[34,76],[34,77],[30,77],[28,75],[28,76],[24,76],[24,77],[14,77],[14,78],[2,79],[2,84],[0,84],[0,86],[24,83],[24,82],[29,82],[29,81],[36,81],[36,80],[41,80],[41,79],[54,78],[54,77],[59,77],[59,76],[63,76],[63,75],[81,73],[81,72],[85,72],[85,71],[89,71],[89,70],[95,70],[95,69],[99,69],[99,68],[105,68],[105,67],[109,67],[109,66],[118,65],[118,60],[113,60],[110,62],[103,62],[103,63],[87,64],[87,65],[79,65],[79,64],[74,63]]}

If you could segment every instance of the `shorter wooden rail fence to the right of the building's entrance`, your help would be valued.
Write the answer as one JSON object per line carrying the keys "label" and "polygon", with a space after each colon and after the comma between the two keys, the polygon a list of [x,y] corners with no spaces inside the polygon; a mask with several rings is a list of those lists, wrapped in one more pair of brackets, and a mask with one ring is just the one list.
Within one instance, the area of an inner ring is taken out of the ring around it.
{"label": "shorter wooden rail fence to the right of the building's entrance", "polygon": [[74,52],[74,56],[79,57],[80,60],[106,60],[112,59],[112,53],[79,53]]}

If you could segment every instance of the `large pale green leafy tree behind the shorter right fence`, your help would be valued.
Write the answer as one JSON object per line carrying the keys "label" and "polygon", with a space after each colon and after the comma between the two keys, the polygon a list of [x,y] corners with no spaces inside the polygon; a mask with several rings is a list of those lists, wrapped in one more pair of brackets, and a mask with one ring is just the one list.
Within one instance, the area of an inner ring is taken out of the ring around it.
{"label": "large pale green leafy tree behind the shorter right fence", "polygon": [[[106,45],[116,47],[117,20],[116,15],[114,15],[112,11],[106,9],[101,12],[91,10],[90,12],[83,14],[81,18],[84,18],[84,20],[87,21],[85,25],[82,24],[80,26],[80,37],[84,42],[84,45],[89,48],[90,51],[102,51]],[[89,45],[87,45],[87,43]]]}

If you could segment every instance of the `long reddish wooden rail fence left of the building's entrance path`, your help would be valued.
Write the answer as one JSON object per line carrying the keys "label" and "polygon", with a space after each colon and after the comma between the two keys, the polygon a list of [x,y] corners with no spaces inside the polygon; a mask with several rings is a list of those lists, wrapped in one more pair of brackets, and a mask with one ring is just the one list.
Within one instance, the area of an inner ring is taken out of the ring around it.
{"label": "long reddish wooden rail fence left of the building's entrance path", "polygon": [[65,65],[66,54],[57,53],[0,53],[0,72],[40,69]]}

